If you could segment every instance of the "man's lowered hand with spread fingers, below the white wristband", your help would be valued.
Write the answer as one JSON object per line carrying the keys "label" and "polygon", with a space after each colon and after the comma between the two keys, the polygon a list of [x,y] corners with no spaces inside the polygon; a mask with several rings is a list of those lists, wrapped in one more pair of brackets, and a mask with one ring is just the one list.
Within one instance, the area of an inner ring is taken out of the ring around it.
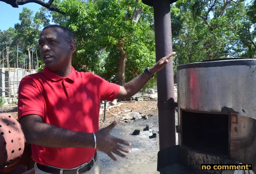
{"label": "man's lowered hand with spread fingers, below the white wristband", "polygon": [[97,143],[96,149],[105,152],[115,162],[117,161],[117,159],[113,156],[112,153],[117,154],[118,156],[121,156],[123,158],[126,158],[126,156],[122,154],[120,151],[123,151],[126,153],[131,152],[129,149],[126,149],[119,144],[129,145],[129,146],[132,145],[132,143],[128,141],[125,141],[110,135],[109,132],[116,126],[116,124],[117,124],[116,121],[114,121],[108,127],[105,127],[95,133],[96,143]]}

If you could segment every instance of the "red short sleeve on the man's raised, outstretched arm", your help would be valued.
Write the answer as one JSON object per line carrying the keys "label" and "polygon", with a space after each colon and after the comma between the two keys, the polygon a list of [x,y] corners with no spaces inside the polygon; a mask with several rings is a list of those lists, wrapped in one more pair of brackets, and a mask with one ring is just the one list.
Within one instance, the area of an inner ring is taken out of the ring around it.
{"label": "red short sleeve on the man's raised, outstretched arm", "polygon": [[114,83],[110,83],[99,76],[97,76],[97,78],[99,81],[99,91],[101,95],[100,100],[113,101],[118,95],[120,86]]}

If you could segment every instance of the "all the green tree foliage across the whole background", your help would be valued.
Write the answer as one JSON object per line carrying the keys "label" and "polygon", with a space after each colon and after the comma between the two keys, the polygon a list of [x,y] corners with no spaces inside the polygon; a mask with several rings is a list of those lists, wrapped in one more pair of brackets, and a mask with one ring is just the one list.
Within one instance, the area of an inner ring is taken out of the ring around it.
{"label": "all the green tree foliage across the whole background", "polygon": [[[128,82],[155,63],[153,8],[141,0],[55,0],[52,5],[67,15],[42,7],[33,16],[33,11],[23,8],[21,23],[0,31],[0,54],[4,50],[6,57],[6,47],[10,47],[11,67],[16,62],[17,45],[19,66],[24,59],[28,62],[27,49],[38,50],[40,31],[50,18],[73,31],[76,52],[72,66],[78,71],[90,71],[117,83],[119,60],[125,54]],[[255,11],[256,0],[249,4],[245,0],[179,0],[171,4],[174,76],[178,65],[214,59],[222,53],[256,58]],[[44,67],[42,61],[40,64],[38,72]],[[155,84],[156,78],[145,89]]]}

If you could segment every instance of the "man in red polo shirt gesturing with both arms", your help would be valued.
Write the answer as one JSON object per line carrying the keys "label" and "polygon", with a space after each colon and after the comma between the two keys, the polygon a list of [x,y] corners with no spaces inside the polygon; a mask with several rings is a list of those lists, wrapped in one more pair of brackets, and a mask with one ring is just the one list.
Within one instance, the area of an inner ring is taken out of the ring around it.
{"label": "man in red polo shirt gesturing with both arms", "polygon": [[19,122],[32,144],[36,174],[100,174],[97,149],[117,161],[113,154],[126,158],[120,151],[130,153],[121,144],[131,145],[110,135],[115,121],[99,130],[100,100],[133,96],[175,53],[119,86],[74,70],[71,57],[76,43],[66,27],[46,26],[38,43],[44,70],[21,80],[18,101]]}

